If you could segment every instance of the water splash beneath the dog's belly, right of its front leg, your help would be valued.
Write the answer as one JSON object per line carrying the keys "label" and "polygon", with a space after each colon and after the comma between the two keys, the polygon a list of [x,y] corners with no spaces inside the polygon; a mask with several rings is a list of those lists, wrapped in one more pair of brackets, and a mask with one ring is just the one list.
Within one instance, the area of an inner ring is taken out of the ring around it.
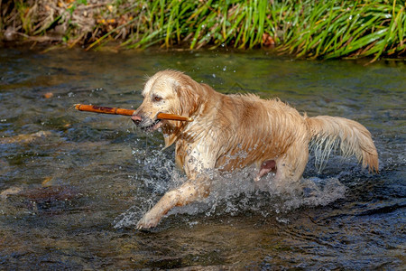
{"label": "water splash beneath the dog's belly, right of its front leg", "polygon": [[346,186],[336,178],[302,179],[282,188],[273,182],[273,174],[254,182],[255,171],[252,167],[236,173],[215,175],[217,182],[213,183],[207,199],[171,210],[169,215],[204,212],[206,216],[236,216],[251,211],[267,217],[286,214],[303,206],[325,206],[343,198],[346,192]]}

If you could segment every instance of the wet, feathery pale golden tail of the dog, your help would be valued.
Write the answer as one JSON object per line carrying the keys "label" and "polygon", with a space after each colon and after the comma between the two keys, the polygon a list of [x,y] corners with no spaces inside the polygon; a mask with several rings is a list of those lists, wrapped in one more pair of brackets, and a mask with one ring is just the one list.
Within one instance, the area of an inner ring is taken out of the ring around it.
{"label": "wet, feathery pale golden tail of the dog", "polygon": [[343,157],[355,155],[358,162],[378,172],[378,153],[371,133],[354,120],[344,117],[307,117],[310,131],[310,149],[314,151],[316,164],[322,170],[328,157],[338,147]]}

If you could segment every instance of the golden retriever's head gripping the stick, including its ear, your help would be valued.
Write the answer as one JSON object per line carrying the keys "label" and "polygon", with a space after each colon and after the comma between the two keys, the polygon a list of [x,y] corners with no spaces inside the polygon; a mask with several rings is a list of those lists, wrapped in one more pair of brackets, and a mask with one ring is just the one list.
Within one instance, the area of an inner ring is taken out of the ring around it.
{"label": "golden retriever's head gripping the stick, including its ear", "polygon": [[151,132],[161,126],[174,130],[185,124],[161,120],[159,113],[191,117],[199,105],[198,84],[189,76],[175,70],[159,71],[148,79],[143,89],[143,103],[132,117],[136,126]]}

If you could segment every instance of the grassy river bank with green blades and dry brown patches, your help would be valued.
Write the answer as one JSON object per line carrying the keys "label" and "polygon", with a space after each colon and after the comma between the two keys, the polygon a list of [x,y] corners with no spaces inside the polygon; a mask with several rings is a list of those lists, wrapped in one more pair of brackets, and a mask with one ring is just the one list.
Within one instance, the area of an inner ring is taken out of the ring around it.
{"label": "grassy river bank with green blades and dry brown patches", "polygon": [[[4,2],[4,1],[3,1]],[[404,56],[404,0],[14,0],[0,1],[2,33],[38,38],[63,29],[60,42],[87,49],[159,44],[198,49],[275,46],[306,58]]]}

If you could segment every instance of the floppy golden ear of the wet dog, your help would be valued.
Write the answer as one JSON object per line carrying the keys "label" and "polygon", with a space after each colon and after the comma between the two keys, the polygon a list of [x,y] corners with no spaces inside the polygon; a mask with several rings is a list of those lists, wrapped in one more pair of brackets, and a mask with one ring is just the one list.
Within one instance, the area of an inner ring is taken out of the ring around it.
{"label": "floppy golden ear of the wet dog", "polygon": [[199,89],[201,86],[197,82],[178,83],[175,87],[180,100],[180,115],[192,116],[200,104]]}

